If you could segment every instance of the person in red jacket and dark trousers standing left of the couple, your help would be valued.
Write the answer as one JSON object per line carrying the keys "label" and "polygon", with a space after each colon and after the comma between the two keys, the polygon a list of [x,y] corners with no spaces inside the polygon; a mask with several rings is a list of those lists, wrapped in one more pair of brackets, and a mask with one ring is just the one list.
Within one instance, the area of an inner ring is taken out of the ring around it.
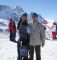
{"label": "person in red jacket and dark trousers standing left of the couple", "polygon": [[9,22],[9,31],[10,31],[10,41],[16,42],[15,37],[16,37],[16,25],[15,22],[10,19]]}

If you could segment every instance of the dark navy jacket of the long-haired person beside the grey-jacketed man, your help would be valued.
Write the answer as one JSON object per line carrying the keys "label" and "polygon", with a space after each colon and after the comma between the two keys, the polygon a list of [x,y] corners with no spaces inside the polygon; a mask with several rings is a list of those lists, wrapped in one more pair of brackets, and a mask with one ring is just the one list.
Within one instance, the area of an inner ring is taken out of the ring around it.
{"label": "dark navy jacket of the long-haired person beside the grey-jacketed man", "polygon": [[27,22],[23,22],[20,24],[20,21],[18,22],[17,29],[19,30],[19,36],[20,40],[23,42],[23,45],[29,45],[29,34],[27,33]]}

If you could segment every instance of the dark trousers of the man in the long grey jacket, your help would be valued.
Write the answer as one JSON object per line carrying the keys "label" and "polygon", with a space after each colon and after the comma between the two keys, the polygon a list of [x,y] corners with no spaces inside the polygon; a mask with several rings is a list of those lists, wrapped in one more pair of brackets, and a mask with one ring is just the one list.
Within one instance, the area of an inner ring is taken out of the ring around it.
{"label": "dark trousers of the man in the long grey jacket", "polygon": [[41,60],[41,51],[40,51],[40,45],[38,46],[30,46],[30,59],[29,60],[33,60],[33,54],[34,54],[34,48],[35,48],[35,52],[36,52],[36,60]]}

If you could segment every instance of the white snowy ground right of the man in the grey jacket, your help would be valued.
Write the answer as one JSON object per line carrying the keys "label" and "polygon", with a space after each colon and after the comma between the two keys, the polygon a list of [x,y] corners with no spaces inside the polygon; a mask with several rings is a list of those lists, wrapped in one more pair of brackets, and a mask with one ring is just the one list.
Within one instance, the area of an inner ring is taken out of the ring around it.
{"label": "white snowy ground right of the man in the grey jacket", "polygon": [[57,41],[46,40],[42,48],[42,60],[57,60]]}

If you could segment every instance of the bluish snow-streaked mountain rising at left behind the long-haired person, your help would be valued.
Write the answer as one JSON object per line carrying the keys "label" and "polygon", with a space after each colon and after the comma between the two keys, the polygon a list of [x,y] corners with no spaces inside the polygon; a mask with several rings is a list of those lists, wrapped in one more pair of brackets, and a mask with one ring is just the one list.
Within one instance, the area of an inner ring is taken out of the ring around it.
{"label": "bluish snow-streaked mountain rising at left behind the long-haired person", "polygon": [[24,10],[19,6],[8,6],[8,5],[0,5],[0,18],[9,20],[13,18],[15,20],[24,13]]}

